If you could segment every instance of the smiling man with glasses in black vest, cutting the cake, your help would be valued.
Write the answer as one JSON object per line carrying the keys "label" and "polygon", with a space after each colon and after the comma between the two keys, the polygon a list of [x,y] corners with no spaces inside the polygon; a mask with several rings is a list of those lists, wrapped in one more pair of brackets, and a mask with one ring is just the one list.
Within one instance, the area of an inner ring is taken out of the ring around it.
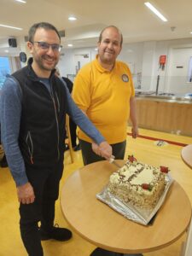
{"label": "smiling man with glasses in black vest, cutting the cake", "polygon": [[70,230],[54,226],[66,113],[96,143],[97,154],[109,159],[112,148],[74,104],[66,84],[55,76],[61,50],[55,26],[34,24],[27,46],[32,54],[27,66],[5,80],[0,123],[3,148],[20,201],[21,238],[30,256],[42,256],[41,240],[67,241],[72,237]]}

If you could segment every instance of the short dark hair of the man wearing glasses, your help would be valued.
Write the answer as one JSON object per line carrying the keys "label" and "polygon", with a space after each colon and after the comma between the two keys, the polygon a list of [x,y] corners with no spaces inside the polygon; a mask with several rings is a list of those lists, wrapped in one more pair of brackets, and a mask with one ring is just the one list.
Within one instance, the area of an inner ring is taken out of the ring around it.
{"label": "short dark hair of the man wearing glasses", "polygon": [[52,24],[50,24],[48,22],[38,22],[38,23],[33,24],[31,26],[31,28],[29,29],[29,32],[28,32],[29,42],[33,42],[35,32],[37,31],[38,28],[44,28],[45,30],[54,30],[61,40],[61,36],[60,36],[58,30],[55,28],[55,26],[53,26]]}

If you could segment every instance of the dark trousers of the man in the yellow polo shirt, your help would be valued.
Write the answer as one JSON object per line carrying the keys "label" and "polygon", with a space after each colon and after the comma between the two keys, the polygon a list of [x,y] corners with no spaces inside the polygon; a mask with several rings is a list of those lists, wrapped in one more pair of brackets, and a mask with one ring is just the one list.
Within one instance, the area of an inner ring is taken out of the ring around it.
{"label": "dark trousers of the man in the yellow polo shirt", "polygon": [[[91,148],[91,143],[87,143],[83,140],[79,140],[79,143],[81,147],[84,166],[105,160],[103,157],[93,152]],[[123,160],[125,156],[126,141],[122,143],[111,144],[111,146],[113,148],[113,155],[115,156],[115,159]]]}

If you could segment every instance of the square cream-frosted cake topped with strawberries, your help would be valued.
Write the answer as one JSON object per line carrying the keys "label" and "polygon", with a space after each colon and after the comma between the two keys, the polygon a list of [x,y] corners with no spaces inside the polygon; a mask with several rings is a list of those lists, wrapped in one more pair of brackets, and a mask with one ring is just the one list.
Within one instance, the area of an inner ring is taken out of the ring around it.
{"label": "square cream-frosted cake topped with strawberries", "polygon": [[164,192],[168,171],[166,166],[149,166],[129,156],[125,166],[110,176],[108,190],[125,203],[152,209]]}

